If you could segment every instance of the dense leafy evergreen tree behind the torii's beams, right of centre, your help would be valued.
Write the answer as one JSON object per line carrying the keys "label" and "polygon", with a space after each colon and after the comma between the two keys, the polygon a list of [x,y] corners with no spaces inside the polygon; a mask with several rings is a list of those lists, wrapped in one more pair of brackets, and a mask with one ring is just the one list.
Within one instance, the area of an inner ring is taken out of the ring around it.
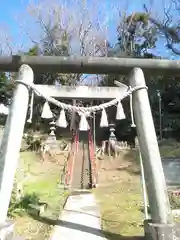
{"label": "dense leafy evergreen tree behind the torii's beams, right of centre", "polygon": [[[117,27],[117,43],[108,48],[109,57],[134,57],[134,58],[157,58],[152,53],[156,47],[156,28],[149,22],[149,16],[143,12],[135,12],[127,15],[120,14]],[[106,76],[101,82],[102,85],[114,85],[114,80],[127,82],[126,76],[112,74]]]}

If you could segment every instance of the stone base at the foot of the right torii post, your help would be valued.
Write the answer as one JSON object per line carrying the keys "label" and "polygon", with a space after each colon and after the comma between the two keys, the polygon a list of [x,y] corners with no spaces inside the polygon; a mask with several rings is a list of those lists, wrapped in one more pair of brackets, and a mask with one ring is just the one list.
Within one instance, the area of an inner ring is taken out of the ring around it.
{"label": "stone base at the foot of the right torii post", "polygon": [[157,224],[145,220],[144,232],[147,240],[174,240],[180,238],[180,224]]}

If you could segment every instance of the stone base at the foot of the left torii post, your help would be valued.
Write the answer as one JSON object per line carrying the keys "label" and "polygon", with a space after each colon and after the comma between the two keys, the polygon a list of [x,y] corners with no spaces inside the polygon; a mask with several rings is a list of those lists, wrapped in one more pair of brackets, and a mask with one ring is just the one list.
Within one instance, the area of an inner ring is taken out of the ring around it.
{"label": "stone base at the foot of the left torii post", "polygon": [[4,223],[0,223],[0,240],[12,240],[14,237],[14,222],[7,220]]}

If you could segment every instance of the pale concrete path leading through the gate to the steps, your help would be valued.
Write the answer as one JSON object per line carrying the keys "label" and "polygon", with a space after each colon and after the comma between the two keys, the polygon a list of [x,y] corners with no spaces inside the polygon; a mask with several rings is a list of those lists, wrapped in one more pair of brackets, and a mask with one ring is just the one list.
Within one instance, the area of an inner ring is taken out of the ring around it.
{"label": "pale concrete path leading through the gate to the steps", "polygon": [[101,232],[100,212],[90,192],[77,192],[68,198],[54,228],[51,240],[105,240]]}

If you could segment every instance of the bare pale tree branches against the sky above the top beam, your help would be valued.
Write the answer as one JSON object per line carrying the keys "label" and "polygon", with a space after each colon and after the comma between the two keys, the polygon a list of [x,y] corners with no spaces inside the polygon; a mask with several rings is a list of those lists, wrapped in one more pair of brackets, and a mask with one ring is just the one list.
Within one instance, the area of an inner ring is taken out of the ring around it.
{"label": "bare pale tree branches against the sky above the top beam", "polygon": [[28,26],[24,31],[36,45],[45,45],[48,40],[47,51],[50,52],[58,49],[56,42],[61,42],[66,33],[70,55],[105,56],[110,15],[102,8],[97,1],[92,1],[91,5],[85,0],[74,0],[69,5],[66,2],[62,5],[59,1],[31,2],[27,12],[35,23],[34,29],[41,31],[40,39],[30,37]]}

